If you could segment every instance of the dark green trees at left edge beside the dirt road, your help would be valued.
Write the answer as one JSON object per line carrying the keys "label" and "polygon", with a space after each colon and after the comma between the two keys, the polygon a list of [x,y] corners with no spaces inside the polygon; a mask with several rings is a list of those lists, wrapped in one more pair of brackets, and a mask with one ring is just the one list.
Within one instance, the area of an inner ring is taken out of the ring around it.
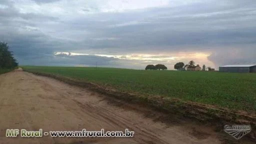
{"label": "dark green trees at left edge beside the dirt road", "polygon": [[5,42],[0,42],[0,68],[14,68],[18,65]]}

